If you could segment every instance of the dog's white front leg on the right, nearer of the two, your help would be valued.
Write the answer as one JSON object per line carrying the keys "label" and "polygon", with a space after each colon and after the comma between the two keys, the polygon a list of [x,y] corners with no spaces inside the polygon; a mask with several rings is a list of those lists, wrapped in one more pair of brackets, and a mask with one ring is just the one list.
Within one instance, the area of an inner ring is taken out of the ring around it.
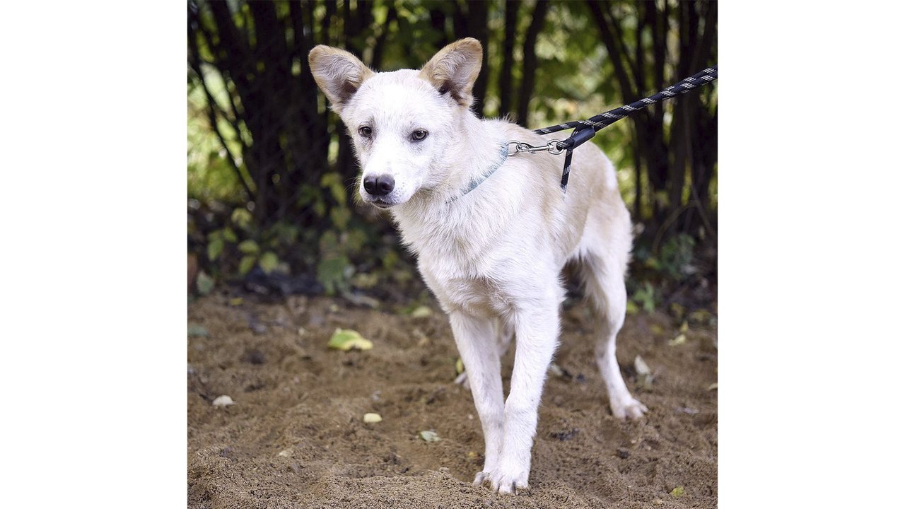
{"label": "dog's white front leg on the right, nearer of the two", "polygon": [[500,465],[491,473],[491,486],[504,494],[528,489],[540,395],[557,347],[558,302],[550,299],[520,313],[516,320],[515,365],[504,411],[503,447]]}

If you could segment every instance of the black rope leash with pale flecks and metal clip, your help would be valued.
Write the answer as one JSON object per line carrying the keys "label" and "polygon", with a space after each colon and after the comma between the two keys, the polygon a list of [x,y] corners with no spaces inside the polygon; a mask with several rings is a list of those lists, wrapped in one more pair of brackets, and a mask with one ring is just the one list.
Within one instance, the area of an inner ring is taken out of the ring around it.
{"label": "black rope leash with pale flecks and metal clip", "polygon": [[[597,134],[598,130],[604,129],[606,126],[613,124],[617,120],[624,119],[637,110],[642,110],[643,108],[646,108],[652,104],[666,101],[667,99],[672,99],[673,97],[683,93],[688,93],[700,87],[701,85],[710,83],[716,79],[717,66],[714,65],[713,67],[708,67],[707,69],[698,72],[694,76],[685,78],[681,82],[678,82],[671,87],[667,87],[650,97],[645,97],[642,100],[634,101],[630,104],[620,106],[619,108],[615,108],[614,110],[605,111],[599,115],[591,117],[588,120],[575,120],[572,122],[566,122],[564,124],[557,124],[555,126],[536,129],[534,130],[534,132],[538,134],[550,134],[567,129],[574,130],[572,131],[572,135],[567,139],[551,139],[547,142],[546,145],[539,145],[537,147],[531,146],[528,143],[524,143],[522,141],[510,140],[507,145],[507,156],[511,157],[519,154],[520,152],[528,152],[529,154],[534,154],[536,152],[549,152],[550,154],[554,155],[566,152],[566,160],[563,163],[563,177],[559,182],[559,186],[562,187],[563,192],[565,192],[566,185],[568,184],[569,169],[572,167],[572,150],[577,149],[579,145],[585,143],[588,139],[594,138],[594,135]],[[515,146],[514,149],[512,148],[513,145]]]}

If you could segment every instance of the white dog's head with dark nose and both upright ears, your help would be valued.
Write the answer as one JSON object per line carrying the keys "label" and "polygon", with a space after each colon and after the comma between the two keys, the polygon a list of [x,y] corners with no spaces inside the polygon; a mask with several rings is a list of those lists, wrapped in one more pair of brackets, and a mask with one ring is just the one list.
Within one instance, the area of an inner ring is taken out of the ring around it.
{"label": "white dog's head with dark nose and both upright ears", "polygon": [[462,115],[472,115],[481,56],[481,43],[462,39],[421,71],[372,72],[352,53],[324,45],[311,50],[314,80],[355,142],[365,202],[404,204],[447,180],[447,158],[467,157],[447,148],[459,137]]}

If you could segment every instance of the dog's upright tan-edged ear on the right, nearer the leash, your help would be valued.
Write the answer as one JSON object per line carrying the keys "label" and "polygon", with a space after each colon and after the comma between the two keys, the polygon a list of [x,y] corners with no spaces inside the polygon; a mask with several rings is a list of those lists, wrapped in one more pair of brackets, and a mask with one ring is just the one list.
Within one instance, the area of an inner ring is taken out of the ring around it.
{"label": "dog's upright tan-edged ear on the right, nearer the leash", "polygon": [[468,108],[474,100],[472,86],[481,72],[482,57],[477,39],[460,39],[433,55],[419,76],[431,82],[441,95],[449,93],[452,100]]}

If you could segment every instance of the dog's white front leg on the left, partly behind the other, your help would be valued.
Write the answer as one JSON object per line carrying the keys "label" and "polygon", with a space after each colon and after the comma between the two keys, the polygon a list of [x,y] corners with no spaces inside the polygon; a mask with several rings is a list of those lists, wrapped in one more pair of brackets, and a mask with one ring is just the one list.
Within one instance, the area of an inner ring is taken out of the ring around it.
{"label": "dog's white front leg on the left, partly behind the other", "polygon": [[480,485],[500,463],[503,433],[503,382],[493,321],[463,312],[450,313],[452,335],[469,373],[474,408],[484,430],[484,468],[474,477]]}

